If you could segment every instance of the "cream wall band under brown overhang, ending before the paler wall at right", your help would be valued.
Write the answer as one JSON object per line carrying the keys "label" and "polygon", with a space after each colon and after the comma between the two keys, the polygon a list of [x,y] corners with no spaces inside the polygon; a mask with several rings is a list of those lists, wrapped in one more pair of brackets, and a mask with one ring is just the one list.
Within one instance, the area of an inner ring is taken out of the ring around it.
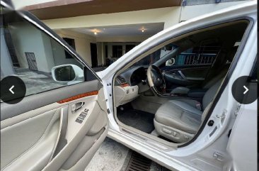
{"label": "cream wall band under brown overhang, ending before the paler wall at right", "polygon": [[52,29],[94,28],[98,26],[122,26],[142,23],[164,23],[164,28],[173,26],[180,20],[180,6],[147,9],[121,13],[103,13],[90,16],[57,18],[43,22]]}

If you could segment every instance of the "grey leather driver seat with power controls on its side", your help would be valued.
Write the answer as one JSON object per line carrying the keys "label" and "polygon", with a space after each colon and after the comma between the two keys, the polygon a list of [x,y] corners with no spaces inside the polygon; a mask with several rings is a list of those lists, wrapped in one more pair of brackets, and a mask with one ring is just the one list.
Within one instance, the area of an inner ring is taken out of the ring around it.
{"label": "grey leather driver seat with power controls on its side", "polygon": [[[202,106],[209,109],[214,95],[219,89],[222,79],[210,87],[202,99]],[[197,133],[207,112],[198,110],[183,101],[170,100],[162,104],[156,111],[154,126],[156,132],[175,143],[184,143]]]}

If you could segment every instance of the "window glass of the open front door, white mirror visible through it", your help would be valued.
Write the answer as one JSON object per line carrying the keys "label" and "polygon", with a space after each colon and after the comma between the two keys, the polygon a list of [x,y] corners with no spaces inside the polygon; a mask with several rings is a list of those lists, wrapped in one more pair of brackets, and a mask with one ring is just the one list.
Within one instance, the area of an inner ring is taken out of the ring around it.
{"label": "window glass of the open front door, white mirror visible through it", "polygon": [[4,9],[2,16],[1,80],[22,79],[25,96],[85,81],[84,65],[50,35],[15,11]]}

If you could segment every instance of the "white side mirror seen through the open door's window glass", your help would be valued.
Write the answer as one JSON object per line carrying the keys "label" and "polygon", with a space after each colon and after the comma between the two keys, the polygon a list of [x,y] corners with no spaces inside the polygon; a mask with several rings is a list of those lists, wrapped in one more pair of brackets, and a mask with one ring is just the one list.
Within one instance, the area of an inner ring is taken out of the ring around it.
{"label": "white side mirror seen through the open door's window glass", "polygon": [[52,67],[51,72],[56,82],[84,82],[84,71],[77,65],[59,65]]}

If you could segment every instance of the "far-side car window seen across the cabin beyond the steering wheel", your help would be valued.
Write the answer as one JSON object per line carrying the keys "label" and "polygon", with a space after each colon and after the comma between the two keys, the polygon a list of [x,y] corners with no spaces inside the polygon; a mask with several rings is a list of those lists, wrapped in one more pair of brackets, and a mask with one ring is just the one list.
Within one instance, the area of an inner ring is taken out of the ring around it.
{"label": "far-side car window seen across the cabin beyond the steering wheel", "polygon": [[212,65],[217,54],[219,53],[220,45],[207,44],[200,45],[183,51],[179,55],[166,61],[166,66],[172,65]]}

